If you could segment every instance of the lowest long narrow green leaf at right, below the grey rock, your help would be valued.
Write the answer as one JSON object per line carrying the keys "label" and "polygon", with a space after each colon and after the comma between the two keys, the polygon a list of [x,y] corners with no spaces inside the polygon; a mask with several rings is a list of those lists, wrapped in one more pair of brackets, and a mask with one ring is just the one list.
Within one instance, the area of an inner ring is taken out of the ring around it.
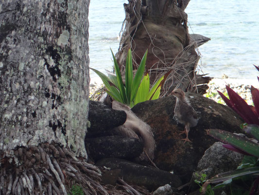
{"label": "lowest long narrow green leaf at right, below the grey rock", "polygon": [[214,176],[208,180],[209,183],[218,183],[222,182],[228,179],[232,179],[238,176],[245,176],[245,175],[251,175],[251,174],[259,174],[259,167],[251,167],[251,168],[245,168],[245,169],[237,169],[234,171],[229,171],[223,174],[218,174],[217,176]]}

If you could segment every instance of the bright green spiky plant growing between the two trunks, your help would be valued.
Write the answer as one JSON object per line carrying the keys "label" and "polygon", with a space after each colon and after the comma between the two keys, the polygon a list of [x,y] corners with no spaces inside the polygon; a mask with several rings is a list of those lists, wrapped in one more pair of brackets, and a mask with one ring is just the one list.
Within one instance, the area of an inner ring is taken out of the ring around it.
{"label": "bright green spiky plant growing between the two trunks", "polygon": [[139,64],[135,77],[133,77],[132,54],[129,49],[125,65],[125,85],[113,52],[112,56],[116,75],[108,73],[108,76],[106,76],[100,71],[90,68],[103,80],[107,93],[112,98],[130,107],[142,101],[159,98],[161,86],[167,76],[159,78],[150,89],[149,74],[144,75],[147,51]]}

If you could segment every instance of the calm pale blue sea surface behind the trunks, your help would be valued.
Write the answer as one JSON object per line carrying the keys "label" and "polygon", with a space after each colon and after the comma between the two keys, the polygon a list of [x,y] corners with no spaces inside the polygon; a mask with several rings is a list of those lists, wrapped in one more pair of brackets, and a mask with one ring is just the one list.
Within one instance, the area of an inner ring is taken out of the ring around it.
{"label": "calm pale blue sea surface behind the trunks", "polygon": [[[119,48],[126,0],[91,0],[89,8],[90,67],[112,70],[110,48]],[[211,77],[256,79],[259,72],[259,0],[190,0],[186,8],[190,34],[211,40],[199,47],[200,71]],[[201,73],[201,72],[200,72]],[[90,71],[91,82],[98,76]],[[253,83],[251,83],[253,84]]]}

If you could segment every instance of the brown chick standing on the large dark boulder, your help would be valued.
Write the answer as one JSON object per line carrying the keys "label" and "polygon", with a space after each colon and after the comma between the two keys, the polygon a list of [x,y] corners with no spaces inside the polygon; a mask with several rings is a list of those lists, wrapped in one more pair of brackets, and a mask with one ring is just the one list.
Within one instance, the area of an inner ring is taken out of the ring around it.
{"label": "brown chick standing on the large dark boulder", "polygon": [[185,97],[185,93],[181,89],[174,89],[171,94],[176,98],[174,117],[179,123],[185,125],[184,131],[179,134],[186,134],[186,138],[183,139],[185,140],[185,143],[186,141],[190,141],[188,133],[190,131],[190,127],[195,127],[197,125],[198,116],[196,111],[190,105],[189,99]]}

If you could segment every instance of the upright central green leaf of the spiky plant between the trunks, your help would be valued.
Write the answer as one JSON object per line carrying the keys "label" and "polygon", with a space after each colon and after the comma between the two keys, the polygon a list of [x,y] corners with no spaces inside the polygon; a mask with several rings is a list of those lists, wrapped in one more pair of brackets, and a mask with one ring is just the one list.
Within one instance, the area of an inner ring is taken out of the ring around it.
{"label": "upright central green leaf of the spiky plant between the trunks", "polygon": [[129,101],[132,95],[131,94],[132,82],[133,82],[132,54],[131,54],[131,49],[129,49],[127,59],[126,59],[126,67],[125,67],[126,96]]}

